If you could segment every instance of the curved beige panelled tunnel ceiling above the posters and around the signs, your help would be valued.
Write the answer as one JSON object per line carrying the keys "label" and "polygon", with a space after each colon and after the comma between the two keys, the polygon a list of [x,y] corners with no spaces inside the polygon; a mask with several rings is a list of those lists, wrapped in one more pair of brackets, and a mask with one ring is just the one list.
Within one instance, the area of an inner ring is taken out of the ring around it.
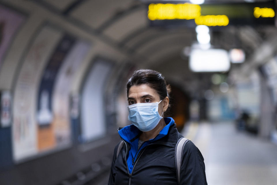
{"label": "curved beige panelled tunnel ceiling above the posters and around the signs", "polygon": [[[178,63],[176,73],[182,74],[184,71],[189,71],[187,58],[181,58],[180,53],[184,47],[191,46],[196,41],[195,30],[184,27],[175,29],[150,27],[147,19],[147,5],[143,1],[28,1],[79,22],[78,25],[91,30],[96,37],[102,38],[108,45],[133,56],[131,60],[134,60],[135,64],[158,68],[161,64]],[[213,32],[213,28],[211,30]],[[214,30],[211,42],[215,44],[215,47],[227,50],[240,47],[246,51],[247,55],[250,55],[271,32],[272,29],[230,26]],[[194,76],[191,72],[186,75]]]}

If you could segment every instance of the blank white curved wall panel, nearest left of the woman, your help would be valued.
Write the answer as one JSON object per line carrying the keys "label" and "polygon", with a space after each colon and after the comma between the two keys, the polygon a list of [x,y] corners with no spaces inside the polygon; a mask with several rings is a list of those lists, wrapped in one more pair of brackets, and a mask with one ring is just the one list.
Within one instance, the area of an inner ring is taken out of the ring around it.
{"label": "blank white curved wall panel, nearest left of the woman", "polygon": [[104,87],[111,67],[111,64],[105,61],[97,61],[85,80],[81,99],[83,141],[104,136],[106,133]]}

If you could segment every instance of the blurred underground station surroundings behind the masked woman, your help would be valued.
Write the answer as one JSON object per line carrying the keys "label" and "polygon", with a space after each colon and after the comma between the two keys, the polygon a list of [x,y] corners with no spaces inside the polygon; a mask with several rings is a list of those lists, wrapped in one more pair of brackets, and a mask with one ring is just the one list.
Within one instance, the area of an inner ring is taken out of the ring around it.
{"label": "blurred underground station surroundings behind the masked woman", "polygon": [[0,184],[107,184],[154,69],[208,184],[277,184],[276,1],[0,0]]}

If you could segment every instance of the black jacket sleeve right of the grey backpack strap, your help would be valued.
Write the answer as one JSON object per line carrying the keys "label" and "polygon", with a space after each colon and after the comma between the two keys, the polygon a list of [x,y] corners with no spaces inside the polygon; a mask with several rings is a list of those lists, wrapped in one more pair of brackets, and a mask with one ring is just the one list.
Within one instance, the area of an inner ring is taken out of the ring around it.
{"label": "black jacket sleeve right of the grey backpack strap", "polygon": [[199,149],[189,141],[183,150],[180,185],[207,185],[204,158]]}

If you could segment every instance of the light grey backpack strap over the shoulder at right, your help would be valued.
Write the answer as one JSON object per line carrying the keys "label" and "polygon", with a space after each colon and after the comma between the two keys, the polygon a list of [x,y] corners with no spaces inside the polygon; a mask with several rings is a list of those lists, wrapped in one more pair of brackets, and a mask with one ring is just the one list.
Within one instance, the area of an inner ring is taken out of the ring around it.
{"label": "light grey backpack strap over the shoulder at right", "polygon": [[180,138],[175,146],[175,165],[176,165],[176,174],[177,174],[177,182],[179,184],[180,181],[180,169],[182,164],[182,156],[183,156],[183,150],[186,143],[188,143],[187,138]]}

